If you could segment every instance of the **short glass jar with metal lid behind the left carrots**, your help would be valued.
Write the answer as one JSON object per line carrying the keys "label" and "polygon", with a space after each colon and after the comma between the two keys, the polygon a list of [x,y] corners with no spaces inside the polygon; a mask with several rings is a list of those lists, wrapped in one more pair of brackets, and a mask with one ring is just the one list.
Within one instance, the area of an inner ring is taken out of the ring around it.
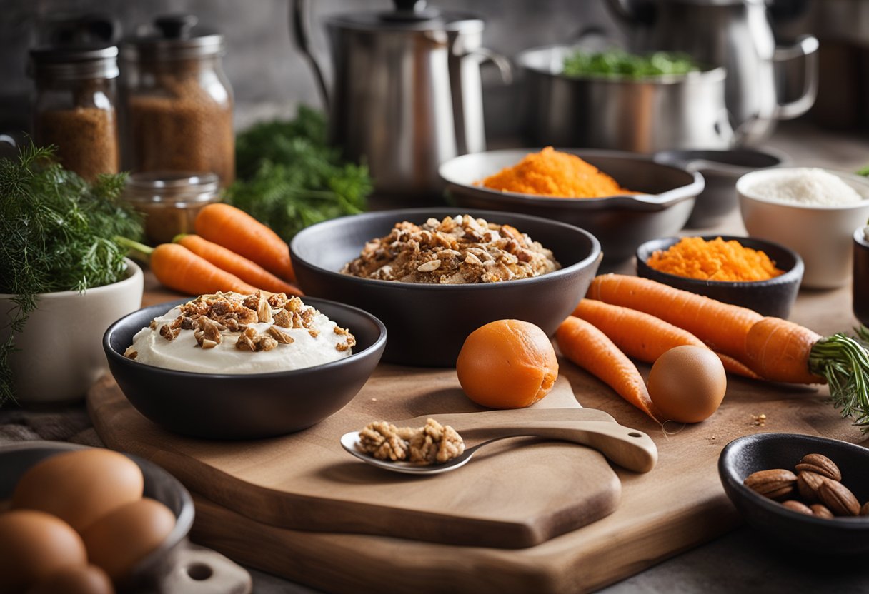
{"label": "short glass jar with metal lid behind the left carrots", "polygon": [[195,233],[196,214],[220,201],[219,191],[212,173],[140,172],[129,175],[123,199],[145,215],[145,236],[156,245]]}

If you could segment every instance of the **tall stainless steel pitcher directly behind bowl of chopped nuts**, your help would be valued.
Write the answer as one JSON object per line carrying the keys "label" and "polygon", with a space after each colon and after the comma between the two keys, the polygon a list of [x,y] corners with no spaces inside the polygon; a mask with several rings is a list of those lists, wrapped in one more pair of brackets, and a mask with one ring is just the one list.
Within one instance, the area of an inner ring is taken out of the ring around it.
{"label": "tall stainless steel pitcher directly behind bowl of chopped nuts", "polygon": [[329,16],[329,91],[309,43],[308,0],[293,2],[295,40],[328,105],[332,141],[368,163],[378,193],[432,194],[441,162],[486,149],[480,66],[493,62],[505,80],[510,67],[481,47],[480,18],[424,0]]}

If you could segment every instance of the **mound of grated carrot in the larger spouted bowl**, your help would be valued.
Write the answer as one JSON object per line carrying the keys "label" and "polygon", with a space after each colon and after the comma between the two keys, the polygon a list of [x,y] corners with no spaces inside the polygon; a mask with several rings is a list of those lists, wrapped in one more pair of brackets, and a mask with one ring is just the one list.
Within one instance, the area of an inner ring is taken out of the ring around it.
{"label": "mound of grated carrot in the larger spouted bowl", "polygon": [[554,198],[602,198],[635,194],[609,175],[576,155],[547,147],[525,155],[521,162],[501,169],[478,182],[501,192],[518,192]]}

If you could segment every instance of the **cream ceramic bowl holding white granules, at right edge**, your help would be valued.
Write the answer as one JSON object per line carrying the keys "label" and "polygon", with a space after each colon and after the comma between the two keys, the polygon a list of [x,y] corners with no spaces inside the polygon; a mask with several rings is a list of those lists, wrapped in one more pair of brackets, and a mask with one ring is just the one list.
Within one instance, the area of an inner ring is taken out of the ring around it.
{"label": "cream ceramic bowl holding white granules, at right edge", "polygon": [[740,177],[736,193],[742,221],[748,234],[790,247],[802,257],[806,266],[802,287],[841,287],[851,279],[854,228],[869,219],[869,181],[860,175],[823,169],[862,198],[846,203],[787,201],[758,189],[810,169],[769,169]]}

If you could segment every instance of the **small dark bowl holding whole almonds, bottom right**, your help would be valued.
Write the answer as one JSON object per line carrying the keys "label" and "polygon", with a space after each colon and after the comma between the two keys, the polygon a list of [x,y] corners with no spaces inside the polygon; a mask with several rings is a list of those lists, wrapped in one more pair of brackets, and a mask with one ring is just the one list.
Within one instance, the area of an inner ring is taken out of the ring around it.
{"label": "small dark bowl holding whole almonds, bottom right", "polygon": [[793,467],[806,454],[819,453],[839,466],[842,484],[860,504],[869,500],[869,449],[836,439],[796,433],[757,433],[734,439],[718,460],[727,497],[746,524],[783,545],[819,554],[869,552],[869,518],[815,518],[793,512],[742,484],[761,470]]}

